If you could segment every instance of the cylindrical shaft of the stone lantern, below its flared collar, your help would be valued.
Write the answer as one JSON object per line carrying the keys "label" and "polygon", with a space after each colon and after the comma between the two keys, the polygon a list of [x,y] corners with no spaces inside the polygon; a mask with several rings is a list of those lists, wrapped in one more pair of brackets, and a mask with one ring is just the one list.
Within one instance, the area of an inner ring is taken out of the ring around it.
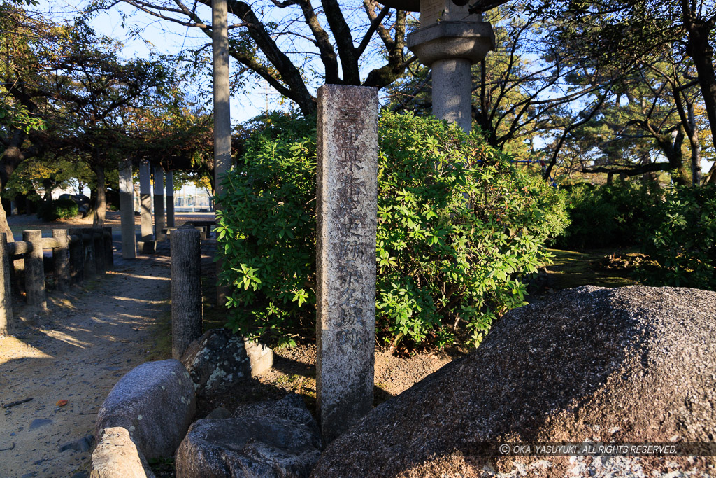
{"label": "cylindrical shaft of the stone lantern, below its flared collar", "polygon": [[470,60],[439,59],[432,64],[432,114],[468,133],[473,128]]}

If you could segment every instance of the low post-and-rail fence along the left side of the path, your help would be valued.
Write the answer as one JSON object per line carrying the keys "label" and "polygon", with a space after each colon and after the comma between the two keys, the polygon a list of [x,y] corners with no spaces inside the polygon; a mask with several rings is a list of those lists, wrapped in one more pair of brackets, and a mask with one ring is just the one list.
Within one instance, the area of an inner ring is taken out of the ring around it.
{"label": "low post-and-rail fence along the left side of the path", "polygon": [[42,231],[23,231],[22,240],[7,242],[0,234],[0,333],[7,334],[13,320],[12,280],[18,275],[14,264],[21,259],[24,266],[27,305],[47,309],[45,288],[45,249],[52,250],[54,284],[67,292],[72,285],[82,285],[87,279],[102,275],[114,268],[112,228],[52,229],[52,237],[42,237]]}

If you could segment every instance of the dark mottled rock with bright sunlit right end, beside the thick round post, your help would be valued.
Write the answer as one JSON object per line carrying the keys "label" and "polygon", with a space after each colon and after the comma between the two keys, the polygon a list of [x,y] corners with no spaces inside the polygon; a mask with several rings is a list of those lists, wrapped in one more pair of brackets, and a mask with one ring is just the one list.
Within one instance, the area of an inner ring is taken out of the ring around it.
{"label": "dark mottled rock with bright sunlit right end, beside the thick round post", "polygon": [[189,344],[182,363],[195,383],[196,393],[226,391],[273,365],[274,353],[265,345],[248,343],[225,328],[206,331]]}

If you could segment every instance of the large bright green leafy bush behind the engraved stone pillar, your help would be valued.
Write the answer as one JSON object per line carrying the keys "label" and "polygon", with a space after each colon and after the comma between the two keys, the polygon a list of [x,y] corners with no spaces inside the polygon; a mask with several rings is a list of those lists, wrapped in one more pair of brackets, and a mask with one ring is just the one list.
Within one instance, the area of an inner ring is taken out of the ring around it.
{"label": "large bright green leafy bush behind the engraved stone pillar", "polygon": [[[477,133],[412,115],[379,126],[379,340],[479,343],[523,305],[526,276],[548,260],[543,242],[566,224],[563,195]],[[218,214],[228,325],[291,345],[315,325],[314,123],[263,128],[243,162]]]}

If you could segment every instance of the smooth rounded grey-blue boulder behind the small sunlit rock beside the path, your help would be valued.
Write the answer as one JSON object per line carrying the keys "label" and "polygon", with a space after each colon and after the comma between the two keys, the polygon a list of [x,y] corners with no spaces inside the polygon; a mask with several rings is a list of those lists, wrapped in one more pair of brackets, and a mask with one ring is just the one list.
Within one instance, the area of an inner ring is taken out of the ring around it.
{"label": "smooth rounded grey-blue boulder behind the small sunlit rock beside the path", "polygon": [[120,378],[102,403],[95,435],[121,426],[147,459],[169,457],[195,410],[194,385],[179,360],[142,363]]}

